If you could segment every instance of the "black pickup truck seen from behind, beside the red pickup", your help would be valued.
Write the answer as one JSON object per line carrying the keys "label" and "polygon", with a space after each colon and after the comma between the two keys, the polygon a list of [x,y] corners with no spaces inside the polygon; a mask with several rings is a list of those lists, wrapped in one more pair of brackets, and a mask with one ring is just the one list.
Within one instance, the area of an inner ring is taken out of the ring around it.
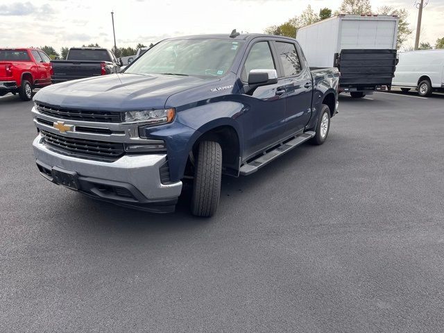
{"label": "black pickup truck seen from behind, beside the red pickup", "polygon": [[66,60],[51,61],[51,82],[119,73],[121,62],[108,49],[81,47],[69,49]]}

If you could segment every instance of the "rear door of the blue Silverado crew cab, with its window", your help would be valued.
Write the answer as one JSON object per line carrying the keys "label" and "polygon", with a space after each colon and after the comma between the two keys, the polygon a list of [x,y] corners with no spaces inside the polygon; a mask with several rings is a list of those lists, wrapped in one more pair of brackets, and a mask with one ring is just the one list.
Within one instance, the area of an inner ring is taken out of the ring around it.
{"label": "rear door of the blue Silverado crew cab, with its window", "polygon": [[282,86],[285,96],[287,135],[304,130],[311,116],[313,83],[309,68],[301,62],[300,50],[291,41],[275,41],[275,49],[281,66]]}

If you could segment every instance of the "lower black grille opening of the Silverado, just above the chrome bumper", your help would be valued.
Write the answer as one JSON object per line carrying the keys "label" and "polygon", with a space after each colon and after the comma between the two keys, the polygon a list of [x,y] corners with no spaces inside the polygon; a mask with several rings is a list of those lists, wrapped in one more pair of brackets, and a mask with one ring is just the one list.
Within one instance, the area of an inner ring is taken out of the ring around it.
{"label": "lower black grille opening of the Silverado, just above the chrome bumper", "polygon": [[105,157],[117,159],[125,153],[123,143],[104,142],[98,140],[79,139],[77,137],[65,137],[62,135],[40,130],[44,142],[77,157]]}

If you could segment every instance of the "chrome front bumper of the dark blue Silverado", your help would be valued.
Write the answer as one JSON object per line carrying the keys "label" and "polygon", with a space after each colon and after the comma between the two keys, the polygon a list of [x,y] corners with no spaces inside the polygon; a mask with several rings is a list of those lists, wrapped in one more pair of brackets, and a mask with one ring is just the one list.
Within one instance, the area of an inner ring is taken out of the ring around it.
{"label": "chrome front bumper of the dark blue Silverado", "polygon": [[94,198],[151,212],[173,212],[182,182],[162,184],[160,167],[167,155],[124,155],[100,162],[61,155],[38,135],[33,142],[37,167],[44,178],[60,183],[57,171],[76,175],[78,191]]}

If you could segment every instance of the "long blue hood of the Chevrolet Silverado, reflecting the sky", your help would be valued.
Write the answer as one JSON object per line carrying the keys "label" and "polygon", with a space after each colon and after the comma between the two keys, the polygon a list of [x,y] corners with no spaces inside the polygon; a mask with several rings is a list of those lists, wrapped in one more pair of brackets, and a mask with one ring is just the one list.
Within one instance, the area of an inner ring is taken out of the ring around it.
{"label": "long blue hood of the Chevrolet Silverado, reflecting the sky", "polygon": [[37,92],[35,101],[65,108],[137,110],[164,108],[169,96],[219,81],[164,74],[110,74],[50,85]]}

